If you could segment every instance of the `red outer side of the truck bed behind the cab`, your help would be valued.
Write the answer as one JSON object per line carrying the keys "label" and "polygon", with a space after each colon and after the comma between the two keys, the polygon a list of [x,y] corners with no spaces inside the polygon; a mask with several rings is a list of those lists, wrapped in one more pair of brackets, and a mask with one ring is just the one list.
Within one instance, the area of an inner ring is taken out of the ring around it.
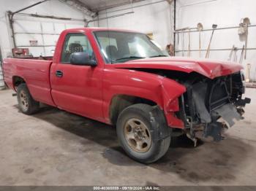
{"label": "red outer side of the truck bed behind the cab", "polygon": [[50,95],[51,60],[50,58],[48,61],[39,58],[6,58],[4,59],[5,82],[10,88],[16,90],[12,78],[23,77],[35,100],[54,106]]}

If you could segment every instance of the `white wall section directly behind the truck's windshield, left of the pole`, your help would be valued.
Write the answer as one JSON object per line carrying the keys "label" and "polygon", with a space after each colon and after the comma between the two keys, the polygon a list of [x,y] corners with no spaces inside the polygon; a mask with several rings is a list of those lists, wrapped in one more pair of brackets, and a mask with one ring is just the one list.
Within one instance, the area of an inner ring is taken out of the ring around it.
{"label": "white wall section directly behind the truck's windshield, left of the pole", "polygon": [[127,12],[134,13],[121,17],[113,17],[108,20],[99,20],[98,26],[123,28],[146,34],[153,33],[154,40],[163,48],[173,41],[170,27],[170,6],[167,1],[148,0],[132,4],[132,6],[128,4],[99,12],[99,17],[111,17]]}

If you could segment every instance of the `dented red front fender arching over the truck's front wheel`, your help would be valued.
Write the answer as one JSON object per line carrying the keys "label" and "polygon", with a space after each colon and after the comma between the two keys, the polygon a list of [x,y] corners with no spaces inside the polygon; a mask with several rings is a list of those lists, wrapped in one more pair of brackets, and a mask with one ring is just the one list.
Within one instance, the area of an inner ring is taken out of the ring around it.
{"label": "dented red front fender arching over the truck's front wheel", "polygon": [[170,127],[184,128],[174,112],[178,111],[178,97],[186,87],[173,79],[157,74],[129,69],[105,69],[103,77],[103,114],[110,122],[111,100],[116,95],[130,95],[154,101],[165,113]]}

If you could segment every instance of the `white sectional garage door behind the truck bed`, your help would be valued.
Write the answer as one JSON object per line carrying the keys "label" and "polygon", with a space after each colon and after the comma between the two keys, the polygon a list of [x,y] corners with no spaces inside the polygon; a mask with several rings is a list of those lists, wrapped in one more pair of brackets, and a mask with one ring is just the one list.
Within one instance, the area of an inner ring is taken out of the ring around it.
{"label": "white sectional garage door behind the truck bed", "polygon": [[83,22],[63,21],[34,17],[15,18],[13,24],[17,47],[29,48],[34,56],[53,55],[61,31],[67,28],[84,27]]}

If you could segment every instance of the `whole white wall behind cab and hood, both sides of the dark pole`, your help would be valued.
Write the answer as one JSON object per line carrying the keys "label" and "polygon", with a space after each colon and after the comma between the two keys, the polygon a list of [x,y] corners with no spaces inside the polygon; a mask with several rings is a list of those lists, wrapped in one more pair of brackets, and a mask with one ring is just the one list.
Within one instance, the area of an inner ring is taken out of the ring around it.
{"label": "whole white wall behind cab and hood, both sides of the dark pole", "polygon": [[[249,17],[252,24],[256,24],[255,17],[255,0],[176,0],[176,28],[190,27],[194,28],[197,23],[203,23],[205,29],[211,28],[212,24],[217,24],[219,28],[238,26],[241,18]],[[158,2],[158,3],[157,3]],[[152,3],[152,4],[151,4]],[[138,7],[143,4],[150,4]],[[99,17],[110,17],[113,15],[132,12],[133,14],[114,17],[107,20],[99,20],[98,26],[110,28],[124,28],[143,33],[153,33],[154,40],[164,48],[166,44],[173,42],[173,5],[170,7],[167,1],[149,0],[139,3],[126,5],[108,9],[107,12],[99,12]],[[119,10],[119,11],[117,11]],[[249,28],[248,48],[256,47],[255,39],[256,27]],[[211,31],[205,31],[201,34],[201,47],[207,49]],[[181,35],[176,38],[177,50],[181,50]],[[184,34],[185,49],[188,47],[188,34]],[[211,49],[227,49],[235,45],[242,48],[244,40],[238,37],[238,28],[215,31],[214,38],[211,43]],[[199,34],[197,32],[191,34],[191,49],[198,50]],[[182,55],[177,52],[176,55]],[[185,56],[187,53],[185,53]],[[204,57],[206,52],[201,53]],[[212,51],[210,58],[227,61],[230,50]],[[241,50],[236,52],[237,61],[239,61]],[[192,52],[192,57],[199,58],[199,52]],[[247,63],[251,64],[250,78],[256,80],[256,50],[247,50],[247,58],[243,61],[245,67]]]}

